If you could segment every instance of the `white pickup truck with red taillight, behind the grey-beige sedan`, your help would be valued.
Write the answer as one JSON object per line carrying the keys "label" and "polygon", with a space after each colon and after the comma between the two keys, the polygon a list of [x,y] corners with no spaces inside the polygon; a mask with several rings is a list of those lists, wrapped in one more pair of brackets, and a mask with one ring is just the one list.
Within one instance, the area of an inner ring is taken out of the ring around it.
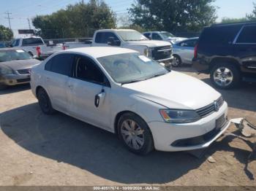
{"label": "white pickup truck with red taillight, behind the grey-beige sedan", "polygon": [[18,47],[31,55],[37,55],[38,58],[45,59],[54,52],[63,50],[62,44],[45,44],[39,36],[24,37],[12,40],[12,47]]}

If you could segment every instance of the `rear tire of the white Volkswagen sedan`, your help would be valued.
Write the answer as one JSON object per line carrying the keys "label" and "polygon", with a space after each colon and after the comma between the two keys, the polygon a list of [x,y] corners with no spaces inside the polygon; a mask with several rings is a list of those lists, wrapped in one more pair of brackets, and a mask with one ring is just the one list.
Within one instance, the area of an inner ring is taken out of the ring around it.
{"label": "rear tire of the white Volkswagen sedan", "polygon": [[40,108],[44,114],[54,114],[56,111],[53,109],[50,98],[43,88],[39,88],[37,92],[37,99]]}

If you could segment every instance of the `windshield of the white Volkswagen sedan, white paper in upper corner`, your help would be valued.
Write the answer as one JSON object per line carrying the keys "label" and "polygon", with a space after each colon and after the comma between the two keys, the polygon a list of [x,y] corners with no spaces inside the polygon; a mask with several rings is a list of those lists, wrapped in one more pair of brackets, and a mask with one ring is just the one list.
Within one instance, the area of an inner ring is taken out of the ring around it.
{"label": "windshield of the white Volkswagen sedan, white paper in upper corner", "polygon": [[98,58],[115,82],[127,84],[169,73],[164,66],[138,53],[109,55]]}

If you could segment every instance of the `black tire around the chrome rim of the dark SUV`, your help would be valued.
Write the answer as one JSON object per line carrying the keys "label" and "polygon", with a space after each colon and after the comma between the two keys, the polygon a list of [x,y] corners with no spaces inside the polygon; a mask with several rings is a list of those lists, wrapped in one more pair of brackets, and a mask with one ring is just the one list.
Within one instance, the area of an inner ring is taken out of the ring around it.
{"label": "black tire around the chrome rim of the dark SUV", "polygon": [[[235,63],[234,63],[235,64]],[[234,64],[232,63],[217,63],[210,71],[210,77],[211,77],[211,82],[213,83],[213,85],[219,89],[222,90],[228,90],[228,89],[232,89],[234,87],[238,87],[238,85],[240,85],[241,83],[241,73],[239,71],[239,69],[234,66]],[[226,68],[228,70],[230,70],[230,74],[232,74],[233,79],[232,80],[228,80],[227,84],[224,85],[225,83],[223,83],[223,85],[220,85],[216,79],[214,79],[216,77],[216,72],[218,69],[223,69]]]}

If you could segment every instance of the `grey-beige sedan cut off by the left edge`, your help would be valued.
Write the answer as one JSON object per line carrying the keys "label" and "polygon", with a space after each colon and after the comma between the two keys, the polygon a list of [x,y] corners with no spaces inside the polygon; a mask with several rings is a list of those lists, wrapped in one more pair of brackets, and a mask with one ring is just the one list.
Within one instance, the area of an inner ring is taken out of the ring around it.
{"label": "grey-beige sedan cut off by the left edge", "polygon": [[40,63],[22,49],[0,50],[0,90],[8,85],[29,83],[31,67]]}

